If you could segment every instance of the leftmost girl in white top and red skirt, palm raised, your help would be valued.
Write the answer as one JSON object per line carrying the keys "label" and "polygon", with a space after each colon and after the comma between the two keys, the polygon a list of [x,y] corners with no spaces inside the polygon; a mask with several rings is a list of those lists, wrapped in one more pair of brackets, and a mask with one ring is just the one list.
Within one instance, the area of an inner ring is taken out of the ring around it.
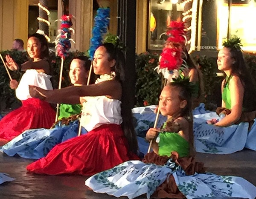
{"label": "leftmost girl in white top and red skirt, palm raised", "polygon": [[[3,117],[0,121],[0,139],[9,141],[24,130],[35,128],[49,128],[55,121],[55,111],[50,104],[29,95],[29,85],[35,85],[47,90],[52,89],[49,75],[50,66],[48,43],[43,35],[35,33],[29,37],[27,51],[31,61],[21,65],[26,70],[20,83],[10,81],[10,87],[16,89],[16,96],[22,101],[22,106]],[[6,55],[9,69],[19,69],[13,59]]]}

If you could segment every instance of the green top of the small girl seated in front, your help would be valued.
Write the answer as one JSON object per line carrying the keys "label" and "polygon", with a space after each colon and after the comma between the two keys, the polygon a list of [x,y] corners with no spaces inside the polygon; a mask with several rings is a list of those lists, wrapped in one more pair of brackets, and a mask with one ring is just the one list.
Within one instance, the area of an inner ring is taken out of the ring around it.
{"label": "green top of the small girl seated in front", "polygon": [[189,142],[178,133],[160,133],[160,141],[158,143],[159,156],[171,156],[173,151],[176,151],[179,157],[189,156]]}

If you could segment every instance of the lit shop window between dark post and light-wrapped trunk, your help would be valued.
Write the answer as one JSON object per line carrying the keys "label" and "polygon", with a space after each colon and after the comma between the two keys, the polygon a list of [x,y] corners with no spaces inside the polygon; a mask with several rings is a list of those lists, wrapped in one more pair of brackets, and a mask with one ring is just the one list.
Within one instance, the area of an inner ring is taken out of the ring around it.
{"label": "lit shop window between dark post and light-wrapped trunk", "polygon": [[148,49],[163,49],[170,21],[182,20],[184,4],[177,2],[178,0],[150,0]]}

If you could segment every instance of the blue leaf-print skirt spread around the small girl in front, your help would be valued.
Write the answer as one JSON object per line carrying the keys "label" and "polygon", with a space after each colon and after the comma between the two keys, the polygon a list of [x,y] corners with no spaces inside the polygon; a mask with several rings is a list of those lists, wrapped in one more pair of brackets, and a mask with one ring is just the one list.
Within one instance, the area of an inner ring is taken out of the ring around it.
{"label": "blue leaf-print skirt spread around the small girl in front", "polygon": [[146,193],[149,199],[169,175],[174,176],[177,187],[188,199],[256,197],[256,187],[243,178],[212,173],[186,176],[184,170],[172,162],[172,159],[163,166],[141,161],[124,162],[91,176],[85,181],[85,185],[96,193],[127,196],[129,199]]}

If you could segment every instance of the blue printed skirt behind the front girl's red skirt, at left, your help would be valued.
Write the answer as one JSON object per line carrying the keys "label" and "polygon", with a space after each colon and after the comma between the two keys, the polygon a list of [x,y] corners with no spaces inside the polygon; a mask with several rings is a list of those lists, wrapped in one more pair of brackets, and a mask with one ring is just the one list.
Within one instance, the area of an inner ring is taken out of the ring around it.
{"label": "blue printed skirt behind the front girl's red skirt, at left", "polygon": [[[2,151],[9,156],[18,154],[22,158],[40,159],[49,153],[56,145],[78,134],[79,121],[69,125],[56,125],[53,129],[26,130],[2,147]],[[87,133],[83,129],[82,134]]]}

